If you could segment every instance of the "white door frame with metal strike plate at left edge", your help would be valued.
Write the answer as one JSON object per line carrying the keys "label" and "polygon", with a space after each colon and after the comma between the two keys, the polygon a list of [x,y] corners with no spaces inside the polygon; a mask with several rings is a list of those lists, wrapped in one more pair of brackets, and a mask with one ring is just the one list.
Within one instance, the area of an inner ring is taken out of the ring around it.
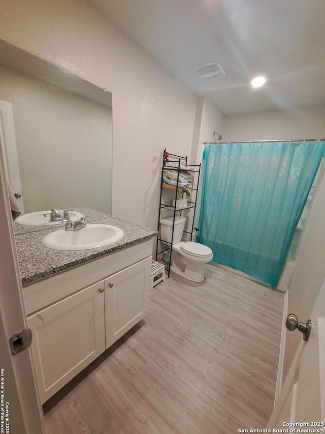
{"label": "white door frame with metal strike plate at left edge", "polygon": [[[12,355],[9,338],[27,327],[12,217],[0,147],[0,378],[4,425],[1,432],[44,434],[30,349]],[[1,413],[1,412],[0,412]],[[8,416],[8,419],[7,419]],[[7,426],[8,424],[8,426]]]}

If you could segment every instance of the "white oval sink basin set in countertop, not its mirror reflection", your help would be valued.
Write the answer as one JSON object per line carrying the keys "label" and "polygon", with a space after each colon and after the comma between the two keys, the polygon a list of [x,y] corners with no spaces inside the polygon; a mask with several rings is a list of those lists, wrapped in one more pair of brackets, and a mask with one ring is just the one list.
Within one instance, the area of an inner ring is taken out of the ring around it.
{"label": "white oval sink basin set in countertop, not its mirror reflection", "polygon": [[42,243],[54,250],[86,250],[107,246],[124,235],[122,229],[109,224],[88,224],[79,230],[59,229],[46,235]]}

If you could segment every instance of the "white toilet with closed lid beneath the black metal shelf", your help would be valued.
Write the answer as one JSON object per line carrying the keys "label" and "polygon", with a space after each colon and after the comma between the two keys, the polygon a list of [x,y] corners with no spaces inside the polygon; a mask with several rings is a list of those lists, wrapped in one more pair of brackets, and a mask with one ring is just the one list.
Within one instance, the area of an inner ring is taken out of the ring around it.
{"label": "white toilet with closed lid beneath the black metal shelf", "polygon": [[[193,241],[181,241],[185,221],[185,217],[175,217],[171,270],[192,282],[202,282],[204,264],[212,260],[212,250]],[[171,243],[172,234],[173,217],[160,219],[161,242]]]}

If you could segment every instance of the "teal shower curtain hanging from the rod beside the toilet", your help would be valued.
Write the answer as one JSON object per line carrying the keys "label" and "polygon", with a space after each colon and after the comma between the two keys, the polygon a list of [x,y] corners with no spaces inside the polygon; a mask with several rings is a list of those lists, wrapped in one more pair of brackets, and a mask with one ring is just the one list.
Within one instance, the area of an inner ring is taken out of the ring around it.
{"label": "teal shower curtain hanging from the rod beside the toilet", "polygon": [[203,154],[199,243],[276,287],[325,141],[225,143]]}

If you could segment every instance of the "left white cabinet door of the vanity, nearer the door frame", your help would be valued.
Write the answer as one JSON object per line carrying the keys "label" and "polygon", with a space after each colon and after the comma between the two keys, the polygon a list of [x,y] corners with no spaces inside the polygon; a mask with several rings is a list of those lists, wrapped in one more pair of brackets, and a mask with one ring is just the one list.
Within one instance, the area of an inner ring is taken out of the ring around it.
{"label": "left white cabinet door of the vanity, nearer the door frame", "polygon": [[28,317],[42,403],[105,351],[104,280]]}

